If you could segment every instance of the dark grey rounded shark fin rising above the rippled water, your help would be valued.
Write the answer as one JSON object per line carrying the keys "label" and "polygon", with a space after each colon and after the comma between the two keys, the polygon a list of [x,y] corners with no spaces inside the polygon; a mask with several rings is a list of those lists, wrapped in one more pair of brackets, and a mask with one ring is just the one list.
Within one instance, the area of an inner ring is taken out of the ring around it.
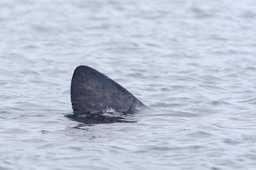
{"label": "dark grey rounded shark fin rising above the rippled water", "polygon": [[147,107],[124,87],[88,66],[76,67],[70,91],[72,108],[77,114],[106,108],[125,113]]}

